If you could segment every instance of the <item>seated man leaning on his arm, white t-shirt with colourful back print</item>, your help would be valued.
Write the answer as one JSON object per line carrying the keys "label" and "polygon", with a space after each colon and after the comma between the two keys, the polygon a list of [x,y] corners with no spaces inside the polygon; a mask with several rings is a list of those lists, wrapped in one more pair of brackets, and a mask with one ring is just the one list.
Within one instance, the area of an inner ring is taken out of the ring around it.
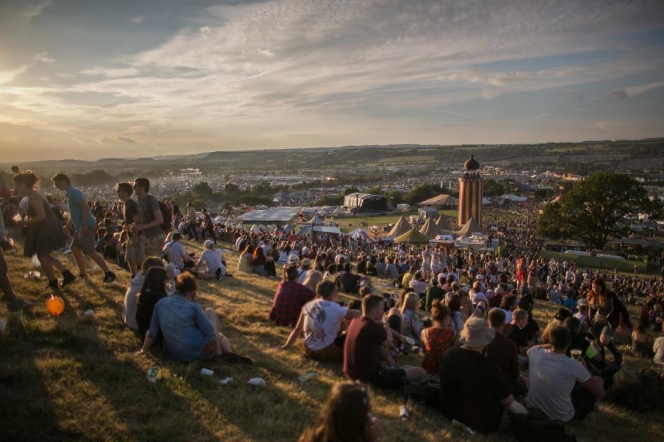
{"label": "seated man leaning on his arm, white t-shirt with colourful back print", "polygon": [[283,348],[291,347],[297,336],[304,333],[307,354],[322,361],[343,361],[346,336],[340,334],[342,323],[360,316],[360,311],[337,303],[339,290],[334,282],[320,282],[316,292],[318,297],[302,307],[297,325]]}

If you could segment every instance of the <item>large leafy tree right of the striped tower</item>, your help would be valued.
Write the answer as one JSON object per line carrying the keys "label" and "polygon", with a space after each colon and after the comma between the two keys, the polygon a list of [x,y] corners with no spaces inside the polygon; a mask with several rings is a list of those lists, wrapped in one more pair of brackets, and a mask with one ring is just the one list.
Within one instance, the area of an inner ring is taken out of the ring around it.
{"label": "large leafy tree right of the striped tower", "polygon": [[645,211],[659,215],[661,206],[649,200],[636,180],[618,173],[596,173],[575,182],[559,202],[544,206],[537,233],[551,239],[578,239],[603,249],[613,238],[629,233],[625,216]]}

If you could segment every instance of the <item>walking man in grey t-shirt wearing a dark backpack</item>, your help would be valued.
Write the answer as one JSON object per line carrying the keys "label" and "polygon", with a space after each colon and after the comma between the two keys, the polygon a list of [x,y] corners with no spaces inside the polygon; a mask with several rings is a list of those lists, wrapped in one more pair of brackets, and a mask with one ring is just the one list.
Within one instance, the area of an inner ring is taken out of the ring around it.
{"label": "walking man in grey t-shirt wearing a dark backpack", "polygon": [[159,202],[150,195],[150,181],[147,178],[133,180],[133,190],[138,197],[138,224],[129,228],[133,233],[142,233],[145,237],[145,256],[161,256],[165,234],[161,228],[164,217],[159,209]]}

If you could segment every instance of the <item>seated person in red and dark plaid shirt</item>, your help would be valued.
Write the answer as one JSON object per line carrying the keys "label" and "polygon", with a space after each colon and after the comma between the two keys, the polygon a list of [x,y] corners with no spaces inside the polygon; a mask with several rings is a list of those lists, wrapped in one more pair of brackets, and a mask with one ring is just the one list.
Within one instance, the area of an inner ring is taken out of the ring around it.
{"label": "seated person in red and dark plaid shirt", "polygon": [[279,283],[270,309],[270,319],[277,325],[295,327],[302,306],[316,294],[297,282],[297,267],[286,267],[286,279]]}

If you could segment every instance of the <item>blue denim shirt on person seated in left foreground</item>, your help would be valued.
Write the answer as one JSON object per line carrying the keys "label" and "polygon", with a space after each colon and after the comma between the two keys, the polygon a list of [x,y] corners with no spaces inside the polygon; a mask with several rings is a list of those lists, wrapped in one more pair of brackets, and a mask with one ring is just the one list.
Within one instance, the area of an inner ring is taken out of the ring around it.
{"label": "blue denim shirt on person seated in left foreground", "polygon": [[216,338],[201,305],[180,294],[163,298],[154,306],[148,334],[156,338],[159,332],[163,334],[166,352],[183,362],[201,356],[205,345]]}

